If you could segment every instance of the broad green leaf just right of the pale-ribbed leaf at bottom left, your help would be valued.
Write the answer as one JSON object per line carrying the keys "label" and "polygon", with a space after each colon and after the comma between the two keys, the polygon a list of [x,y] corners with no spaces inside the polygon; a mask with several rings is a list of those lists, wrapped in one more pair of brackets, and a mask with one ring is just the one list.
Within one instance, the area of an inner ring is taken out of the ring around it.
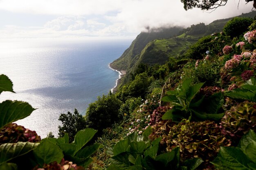
{"label": "broad green leaf just right of the pale-ribbed leaf at bottom left", "polygon": [[64,157],[62,150],[56,144],[47,140],[40,143],[40,145],[33,150],[33,153],[37,163],[41,167],[44,163],[49,164],[54,161],[60,163],[61,159]]}

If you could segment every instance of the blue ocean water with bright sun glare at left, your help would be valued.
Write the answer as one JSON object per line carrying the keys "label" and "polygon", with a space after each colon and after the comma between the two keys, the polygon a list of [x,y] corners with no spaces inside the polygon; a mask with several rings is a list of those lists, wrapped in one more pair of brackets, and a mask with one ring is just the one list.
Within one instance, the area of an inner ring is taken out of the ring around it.
{"label": "blue ocean water with bright sun glare at left", "polygon": [[85,115],[97,96],[108,94],[119,73],[108,64],[121,56],[128,40],[8,41],[0,42],[0,74],[13,82],[16,93],[2,92],[4,100],[22,100],[37,108],[16,123],[42,138],[57,137],[58,117],[74,108]]}

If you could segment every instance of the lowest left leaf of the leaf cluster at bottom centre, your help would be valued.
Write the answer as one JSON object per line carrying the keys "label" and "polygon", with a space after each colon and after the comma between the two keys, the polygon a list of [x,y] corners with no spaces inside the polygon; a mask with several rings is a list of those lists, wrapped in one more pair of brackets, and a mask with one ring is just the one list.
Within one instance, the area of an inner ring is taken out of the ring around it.
{"label": "lowest left leaf of the leaf cluster at bottom centre", "polygon": [[129,153],[123,152],[118,155],[115,155],[114,157],[110,158],[110,161],[115,164],[116,167],[118,168],[127,168],[128,166],[132,166],[130,161],[128,160]]}

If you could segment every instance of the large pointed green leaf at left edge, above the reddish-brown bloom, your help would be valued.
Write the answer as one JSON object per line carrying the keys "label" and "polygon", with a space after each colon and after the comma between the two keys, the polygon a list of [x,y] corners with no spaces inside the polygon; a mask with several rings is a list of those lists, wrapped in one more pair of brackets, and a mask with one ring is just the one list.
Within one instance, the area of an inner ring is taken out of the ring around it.
{"label": "large pointed green leaf at left edge, above the reddish-brown bloom", "polygon": [[27,102],[6,100],[0,103],[0,129],[8,123],[26,118],[34,110]]}

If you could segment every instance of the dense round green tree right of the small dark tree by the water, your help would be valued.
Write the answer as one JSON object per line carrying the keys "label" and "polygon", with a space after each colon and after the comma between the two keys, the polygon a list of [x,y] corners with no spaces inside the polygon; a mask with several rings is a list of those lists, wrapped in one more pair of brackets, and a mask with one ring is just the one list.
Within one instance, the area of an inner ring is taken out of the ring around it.
{"label": "dense round green tree right of the small dark tree by the water", "polygon": [[97,129],[101,133],[103,129],[110,127],[119,120],[119,109],[123,103],[115,94],[103,95],[91,103],[85,114],[88,128]]}

